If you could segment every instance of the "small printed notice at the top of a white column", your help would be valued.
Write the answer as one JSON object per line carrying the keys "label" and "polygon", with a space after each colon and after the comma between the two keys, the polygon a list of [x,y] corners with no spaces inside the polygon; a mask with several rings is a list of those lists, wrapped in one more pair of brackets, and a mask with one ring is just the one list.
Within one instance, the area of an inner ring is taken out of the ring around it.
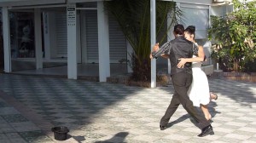
{"label": "small printed notice at the top of a white column", "polygon": [[76,6],[67,5],[67,26],[76,26]]}

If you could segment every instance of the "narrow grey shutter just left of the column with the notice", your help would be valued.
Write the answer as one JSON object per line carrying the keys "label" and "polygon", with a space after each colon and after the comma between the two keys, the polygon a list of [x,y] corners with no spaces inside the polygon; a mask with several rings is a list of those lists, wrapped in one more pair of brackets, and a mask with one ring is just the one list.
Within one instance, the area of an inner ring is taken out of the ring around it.
{"label": "narrow grey shutter just left of the column with the notice", "polygon": [[67,57],[67,14],[55,13],[57,57]]}

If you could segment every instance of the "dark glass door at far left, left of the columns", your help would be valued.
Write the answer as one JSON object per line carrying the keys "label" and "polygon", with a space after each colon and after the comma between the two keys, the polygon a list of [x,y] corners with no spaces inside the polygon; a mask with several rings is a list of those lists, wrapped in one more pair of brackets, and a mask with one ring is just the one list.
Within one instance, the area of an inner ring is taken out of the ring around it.
{"label": "dark glass door at far left, left of the columns", "polygon": [[35,69],[33,12],[10,12],[10,48],[12,71]]}

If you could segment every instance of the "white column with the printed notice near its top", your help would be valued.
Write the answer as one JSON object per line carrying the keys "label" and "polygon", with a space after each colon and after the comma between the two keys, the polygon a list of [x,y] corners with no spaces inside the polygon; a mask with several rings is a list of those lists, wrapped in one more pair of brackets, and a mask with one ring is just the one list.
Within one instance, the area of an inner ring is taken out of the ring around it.
{"label": "white column with the printed notice near its top", "polygon": [[78,78],[76,4],[67,4],[67,78]]}

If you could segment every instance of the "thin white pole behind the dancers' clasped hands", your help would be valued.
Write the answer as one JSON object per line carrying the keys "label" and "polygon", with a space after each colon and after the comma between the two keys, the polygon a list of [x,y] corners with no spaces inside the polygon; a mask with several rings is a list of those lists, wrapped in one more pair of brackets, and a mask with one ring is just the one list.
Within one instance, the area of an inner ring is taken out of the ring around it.
{"label": "thin white pole behind the dancers' clasped hands", "polygon": [[[153,49],[156,43],[156,21],[155,21],[155,0],[150,0],[150,24],[151,24],[151,48]],[[151,60],[151,88],[156,87],[156,61]]]}

